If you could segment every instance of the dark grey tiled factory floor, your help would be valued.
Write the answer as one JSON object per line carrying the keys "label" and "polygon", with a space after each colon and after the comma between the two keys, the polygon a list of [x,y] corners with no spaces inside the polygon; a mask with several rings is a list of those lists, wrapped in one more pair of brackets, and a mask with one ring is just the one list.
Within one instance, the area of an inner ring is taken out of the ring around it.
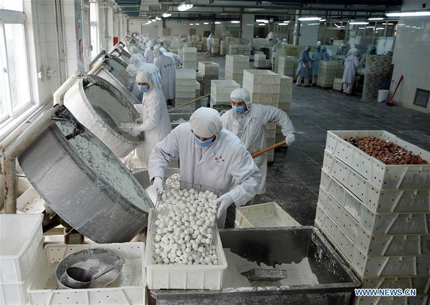
{"label": "dark grey tiled factory floor", "polygon": [[[202,54],[198,53],[198,61],[206,60]],[[225,57],[210,61],[220,64],[220,79],[224,79]],[[327,130],[386,130],[430,151],[428,114],[362,102],[358,96],[316,87],[293,86],[292,100],[290,119],[296,128],[296,142],[286,152],[275,150],[262,202],[279,203],[302,225],[314,224]],[[226,228],[234,227],[234,213],[231,206]]]}

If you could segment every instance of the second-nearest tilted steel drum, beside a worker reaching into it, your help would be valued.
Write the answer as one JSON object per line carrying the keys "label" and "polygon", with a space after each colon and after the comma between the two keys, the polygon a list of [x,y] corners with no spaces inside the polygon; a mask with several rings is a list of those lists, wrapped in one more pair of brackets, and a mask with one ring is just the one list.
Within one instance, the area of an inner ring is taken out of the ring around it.
{"label": "second-nearest tilted steel drum, beside a worker reaching into it", "polygon": [[127,89],[119,90],[99,76],[88,75],[70,87],[64,105],[117,157],[125,157],[143,142],[143,134],[130,135],[130,126],[141,117],[130,96]]}

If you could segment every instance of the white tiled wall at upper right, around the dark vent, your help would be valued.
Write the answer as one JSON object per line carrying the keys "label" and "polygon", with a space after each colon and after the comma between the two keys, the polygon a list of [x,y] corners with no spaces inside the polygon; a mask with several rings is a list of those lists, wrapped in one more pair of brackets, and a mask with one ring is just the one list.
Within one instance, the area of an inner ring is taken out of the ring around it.
{"label": "white tiled wall at upper right, around the dark vent", "polygon": [[[402,11],[419,10],[421,3],[430,6],[430,1],[404,0]],[[394,102],[421,112],[430,113],[430,101],[427,108],[413,104],[416,89],[430,90],[430,18],[401,17],[398,22],[396,43],[393,52],[393,81],[390,92],[403,74],[404,79],[397,90]]]}

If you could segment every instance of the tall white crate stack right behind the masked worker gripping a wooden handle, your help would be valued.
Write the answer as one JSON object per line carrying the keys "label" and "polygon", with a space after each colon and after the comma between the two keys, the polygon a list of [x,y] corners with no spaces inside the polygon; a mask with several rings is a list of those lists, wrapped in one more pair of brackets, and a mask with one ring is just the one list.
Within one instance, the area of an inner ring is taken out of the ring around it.
{"label": "tall white crate stack right behind the masked worker gripping a wooden handle", "polygon": [[[269,70],[244,70],[243,88],[251,95],[251,103],[278,107],[281,75]],[[275,144],[276,124],[269,123],[266,128],[268,146]],[[269,162],[273,161],[273,150],[268,153]]]}

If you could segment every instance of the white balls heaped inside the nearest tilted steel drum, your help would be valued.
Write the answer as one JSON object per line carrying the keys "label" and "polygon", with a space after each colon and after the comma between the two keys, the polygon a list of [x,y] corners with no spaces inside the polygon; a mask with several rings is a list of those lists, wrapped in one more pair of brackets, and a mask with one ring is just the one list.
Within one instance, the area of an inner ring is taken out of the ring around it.
{"label": "white balls heaped inside the nearest tilted steel drum", "polygon": [[[69,122],[57,122],[57,126],[63,135],[68,135],[73,130],[73,126]],[[82,133],[74,139],[70,139],[69,143],[108,185],[137,207],[148,210],[145,201],[139,195],[143,193],[143,189],[133,179],[130,171],[122,166],[107,148],[93,142],[94,138],[91,138],[87,133]],[[138,192],[139,188],[142,189],[140,193]]]}

